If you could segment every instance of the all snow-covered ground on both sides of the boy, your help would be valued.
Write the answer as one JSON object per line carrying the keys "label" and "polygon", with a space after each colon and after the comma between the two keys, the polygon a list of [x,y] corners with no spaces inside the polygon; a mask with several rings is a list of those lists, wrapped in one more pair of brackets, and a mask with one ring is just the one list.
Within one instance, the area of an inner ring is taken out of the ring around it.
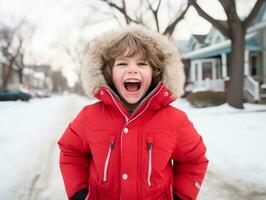
{"label": "all snow-covered ground on both sides of the boy", "polygon": [[[1,200],[63,200],[56,141],[91,101],[75,95],[0,102]],[[184,110],[208,148],[208,173],[200,200],[266,199],[266,106],[222,105]]]}

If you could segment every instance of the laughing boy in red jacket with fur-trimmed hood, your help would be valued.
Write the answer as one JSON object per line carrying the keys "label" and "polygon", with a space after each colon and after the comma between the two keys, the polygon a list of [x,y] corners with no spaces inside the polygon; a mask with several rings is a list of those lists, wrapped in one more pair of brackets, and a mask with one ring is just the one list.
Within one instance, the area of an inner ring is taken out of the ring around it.
{"label": "laughing boy in red jacket with fur-trimmed hood", "polygon": [[83,86],[85,106],[59,140],[72,200],[196,199],[208,160],[185,113],[183,65],[164,36],[129,26],[95,39]]}

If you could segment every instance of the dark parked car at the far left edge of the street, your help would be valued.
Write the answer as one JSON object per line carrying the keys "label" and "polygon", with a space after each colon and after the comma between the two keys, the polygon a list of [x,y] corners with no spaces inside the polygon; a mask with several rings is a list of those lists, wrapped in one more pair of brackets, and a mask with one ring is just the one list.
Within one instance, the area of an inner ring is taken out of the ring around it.
{"label": "dark parked car at the far left edge of the street", "polygon": [[20,89],[0,89],[0,101],[29,101],[31,95]]}

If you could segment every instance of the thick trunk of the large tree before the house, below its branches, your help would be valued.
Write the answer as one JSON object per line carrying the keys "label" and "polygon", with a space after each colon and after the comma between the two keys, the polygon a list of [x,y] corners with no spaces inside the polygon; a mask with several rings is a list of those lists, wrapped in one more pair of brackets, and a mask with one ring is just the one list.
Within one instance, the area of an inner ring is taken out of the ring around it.
{"label": "thick trunk of the large tree before the house, below its branches", "polygon": [[227,103],[235,108],[243,108],[243,86],[244,86],[244,51],[245,30],[241,22],[234,23],[231,27],[231,56],[230,83],[227,95]]}

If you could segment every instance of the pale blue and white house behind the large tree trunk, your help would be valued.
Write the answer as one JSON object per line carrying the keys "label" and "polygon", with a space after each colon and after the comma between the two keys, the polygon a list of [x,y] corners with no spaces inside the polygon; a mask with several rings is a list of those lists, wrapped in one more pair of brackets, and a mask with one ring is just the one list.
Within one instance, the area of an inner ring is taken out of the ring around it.
{"label": "pale blue and white house behind the large tree trunk", "polygon": [[[231,41],[214,27],[207,35],[191,36],[190,51],[182,55],[188,63],[187,91],[226,90],[230,79],[230,45]],[[266,4],[245,36],[244,75],[246,98],[252,101],[266,98]]]}

